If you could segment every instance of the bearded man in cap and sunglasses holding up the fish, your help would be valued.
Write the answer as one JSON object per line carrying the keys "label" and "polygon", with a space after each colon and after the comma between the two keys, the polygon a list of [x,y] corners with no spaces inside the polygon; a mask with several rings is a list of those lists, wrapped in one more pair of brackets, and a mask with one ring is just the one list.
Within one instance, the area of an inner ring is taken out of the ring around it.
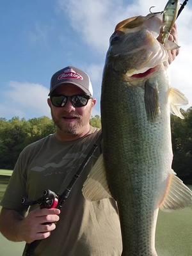
{"label": "bearded man in cap and sunglasses holding up the fish", "polygon": [[[176,34],[173,28],[169,39],[176,41]],[[169,54],[172,62],[178,50]],[[64,191],[100,133],[89,124],[96,100],[86,73],[75,67],[56,72],[49,96],[47,102],[56,133],[32,143],[20,154],[1,202],[0,230],[11,241],[42,240],[33,255],[120,256],[122,241],[115,201],[88,202],[81,193],[100,148],[77,180],[61,212],[33,205],[25,216],[28,208],[20,203],[21,198],[36,200],[44,189],[59,194]]]}

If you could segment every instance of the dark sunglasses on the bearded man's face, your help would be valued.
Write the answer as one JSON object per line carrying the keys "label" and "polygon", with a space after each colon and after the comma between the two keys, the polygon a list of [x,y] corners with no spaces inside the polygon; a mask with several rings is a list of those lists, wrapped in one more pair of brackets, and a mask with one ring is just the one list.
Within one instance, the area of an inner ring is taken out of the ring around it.
{"label": "dark sunglasses on the bearded man's face", "polygon": [[66,96],[66,95],[51,95],[50,100],[53,106],[57,108],[65,107],[67,104],[67,100],[70,100],[70,103],[75,108],[81,108],[86,106],[89,99],[92,99],[89,95],[72,95],[72,96]]}

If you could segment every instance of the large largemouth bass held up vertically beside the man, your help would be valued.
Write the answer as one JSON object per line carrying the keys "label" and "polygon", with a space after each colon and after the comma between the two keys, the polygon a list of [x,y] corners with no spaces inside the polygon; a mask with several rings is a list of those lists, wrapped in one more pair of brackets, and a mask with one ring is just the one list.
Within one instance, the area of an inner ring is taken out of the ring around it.
{"label": "large largemouth bass held up vertically beside the man", "polygon": [[[172,170],[170,112],[188,100],[170,87],[168,54],[156,37],[161,19],[150,14],[116,26],[102,79],[103,154],[83,188],[88,200],[113,196],[123,256],[157,256],[159,209],[191,205],[192,193]],[[172,43],[175,47],[174,43]]]}

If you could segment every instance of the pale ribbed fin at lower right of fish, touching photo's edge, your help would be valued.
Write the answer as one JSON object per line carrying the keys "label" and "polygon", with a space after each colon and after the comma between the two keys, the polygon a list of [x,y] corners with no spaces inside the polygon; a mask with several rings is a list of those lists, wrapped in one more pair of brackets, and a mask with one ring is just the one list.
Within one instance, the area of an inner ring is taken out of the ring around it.
{"label": "pale ribbed fin at lower right of fish, touching photo's edge", "polygon": [[162,211],[172,211],[191,205],[192,191],[175,174],[170,174],[166,194],[159,208]]}

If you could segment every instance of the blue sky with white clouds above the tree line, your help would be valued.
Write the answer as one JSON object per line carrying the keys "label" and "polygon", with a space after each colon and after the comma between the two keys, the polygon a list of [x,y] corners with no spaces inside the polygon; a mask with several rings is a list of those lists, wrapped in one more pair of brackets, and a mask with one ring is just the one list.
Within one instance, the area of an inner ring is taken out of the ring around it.
{"label": "blue sky with white clouds above the tree line", "polygon": [[[90,74],[100,113],[100,84],[109,36],[115,25],[165,1],[33,0],[3,1],[0,15],[0,117],[49,116],[49,81],[57,70],[73,65]],[[192,6],[177,20],[180,54],[170,65],[172,86],[192,105]],[[189,107],[188,106],[188,107]]]}

